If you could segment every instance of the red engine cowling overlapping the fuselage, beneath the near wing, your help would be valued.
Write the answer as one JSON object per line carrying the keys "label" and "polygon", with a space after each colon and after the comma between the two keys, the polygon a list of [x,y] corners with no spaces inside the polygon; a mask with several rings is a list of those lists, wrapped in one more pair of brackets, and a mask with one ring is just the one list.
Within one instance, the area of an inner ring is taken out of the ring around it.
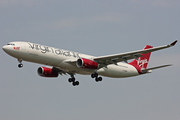
{"label": "red engine cowling overlapping the fuselage, beneath the near wing", "polygon": [[93,60],[85,59],[85,58],[80,58],[76,62],[77,67],[79,68],[85,68],[85,69],[97,69],[98,68],[98,63],[96,63]]}

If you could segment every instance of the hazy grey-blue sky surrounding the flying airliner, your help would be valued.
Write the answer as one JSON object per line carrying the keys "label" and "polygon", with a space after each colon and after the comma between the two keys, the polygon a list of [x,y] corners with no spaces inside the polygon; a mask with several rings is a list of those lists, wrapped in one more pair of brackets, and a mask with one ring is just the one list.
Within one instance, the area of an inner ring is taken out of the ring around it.
{"label": "hazy grey-blue sky surrounding the flying airliner", "polygon": [[[104,56],[167,45],[180,38],[179,0],[1,0],[0,46],[29,41]],[[180,120],[180,44],[153,52],[151,74],[43,78],[43,65],[0,50],[1,120]]]}

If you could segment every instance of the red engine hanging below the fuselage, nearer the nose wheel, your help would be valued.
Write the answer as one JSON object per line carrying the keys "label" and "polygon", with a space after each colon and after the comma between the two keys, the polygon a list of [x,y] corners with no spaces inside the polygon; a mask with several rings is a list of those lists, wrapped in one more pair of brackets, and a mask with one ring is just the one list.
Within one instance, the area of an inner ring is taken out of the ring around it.
{"label": "red engine hanging below the fuselage, nearer the nose wheel", "polygon": [[38,75],[42,77],[58,77],[59,73],[56,70],[47,67],[39,67]]}

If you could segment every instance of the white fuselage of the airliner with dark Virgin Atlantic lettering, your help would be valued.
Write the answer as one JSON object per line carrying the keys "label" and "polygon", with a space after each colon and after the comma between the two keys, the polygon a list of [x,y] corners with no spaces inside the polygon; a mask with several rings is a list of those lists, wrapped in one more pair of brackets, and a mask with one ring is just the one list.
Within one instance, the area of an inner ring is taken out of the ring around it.
{"label": "white fuselage of the airliner with dark Virgin Atlantic lettering", "polygon": [[9,44],[11,45],[5,45],[3,50],[17,59],[54,66],[69,73],[87,75],[96,71],[99,75],[113,78],[139,75],[135,67],[122,62],[116,65],[110,64],[97,70],[83,69],[77,67],[76,64],[71,64],[69,61],[77,61],[79,58],[93,60],[94,56],[30,42],[11,42]]}

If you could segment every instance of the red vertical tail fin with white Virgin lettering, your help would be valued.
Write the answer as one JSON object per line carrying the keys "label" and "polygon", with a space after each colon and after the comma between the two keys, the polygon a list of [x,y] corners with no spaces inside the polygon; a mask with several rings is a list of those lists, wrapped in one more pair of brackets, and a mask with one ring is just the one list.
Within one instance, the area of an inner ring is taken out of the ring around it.
{"label": "red vertical tail fin with white Virgin lettering", "polygon": [[[153,48],[153,47],[150,45],[146,45],[144,49],[149,49],[149,48]],[[151,53],[146,53],[146,54],[141,54],[141,55],[142,57],[139,57],[138,60],[134,59],[129,64],[133,65],[134,67],[146,69]]]}

